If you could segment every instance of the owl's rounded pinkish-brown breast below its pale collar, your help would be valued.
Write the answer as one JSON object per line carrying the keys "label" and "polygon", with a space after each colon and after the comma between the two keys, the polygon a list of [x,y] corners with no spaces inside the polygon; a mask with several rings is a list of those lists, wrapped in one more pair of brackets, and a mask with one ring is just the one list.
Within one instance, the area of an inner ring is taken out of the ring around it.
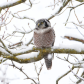
{"label": "owl's rounded pinkish-brown breast below its pale collar", "polygon": [[53,30],[45,33],[34,32],[34,44],[36,47],[52,47],[54,40],[55,36]]}

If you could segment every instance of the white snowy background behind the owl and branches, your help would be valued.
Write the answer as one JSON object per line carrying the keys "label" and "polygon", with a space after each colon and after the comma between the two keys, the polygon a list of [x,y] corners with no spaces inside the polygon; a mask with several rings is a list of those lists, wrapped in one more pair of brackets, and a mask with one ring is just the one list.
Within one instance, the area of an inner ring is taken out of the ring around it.
{"label": "white snowy background behind the owl and branches", "polygon": [[[2,0],[0,1],[0,7],[3,5],[7,5],[10,3],[15,2],[16,0]],[[8,9],[8,13],[6,16],[3,16],[3,18],[7,18],[7,20],[0,20],[0,38],[3,39],[4,43],[6,45],[11,45],[14,43],[18,43],[20,41],[23,42],[23,45],[16,49],[10,49],[11,52],[16,53],[23,50],[31,49],[34,45],[29,45],[29,47],[25,47],[24,45],[28,43],[32,37],[33,32],[29,34],[23,34],[21,33],[15,33],[13,35],[14,31],[22,31],[22,32],[29,32],[32,31],[35,28],[35,22],[38,19],[41,18],[49,18],[51,15],[53,15],[60,6],[62,5],[62,1],[55,1],[55,0],[31,0],[32,7],[30,8],[29,0],[27,0],[25,3],[19,4],[14,7],[10,7]],[[57,3],[55,6],[53,6],[55,3]],[[78,4],[81,4],[77,1],[72,1],[72,3],[68,4],[68,6],[76,6]],[[65,7],[62,12],[67,8]],[[64,38],[64,36],[71,36],[78,39],[84,40],[83,32],[84,32],[84,5],[79,6],[71,11],[69,20],[67,22],[67,25],[65,26],[66,20],[69,16],[70,8],[67,8],[62,14],[56,15],[54,18],[50,19],[52,27],[54,27],[56,38],[55,38],[55,44],[54,47],[57,48],[70,48],[70,49],[76,49],[78,51],[84,50],[84,44],[78,41],[68,40]],[[2,10],[0,17],[6,12],[7,9]],[[26,11],[22,11],[26,10]],[[5,14],[4,14],[5,15]],[[14,17],[13,17],[14,15]],[[19,18],[31,18],[33,20],[29,19],[18,19]],[[11,22],[10,22],[11,21]],[[72,22],[79,24],[79,26],[74,25]],[[9,24],[8,24],[9,23]],[[80,27],[82,25],[82,28]],[[80,33],[80,32],[81,33]],[[23,48],[23,49],[22,49]],[[33,53],[38,54],[38,53]],[[32,54],[28,54],[26,56],[22,56],[22,58],[30,57]],[[36,82],[38,82],[37,78],[37,72],[39,72],[39,69],[41,67],[41,63],[44,63],[41,73],[39,75],[39,81],[40,84],[56,84],[56,80],[62,76],[64,73],[66,73],[69,69],[68,66],[72,67],[70,63],[67,61],[58,59],[56,56],[64,59],[67,58],[68,54],[55,54],[52,64],[52,69],[47,70],[44,59],[41,61],[34,63],[25,63],[20,64],[17,62],[14,62],[14,64],[23,69],[23,71],[32,79],[34,79]],[[77,57],[78,60],[83,59],[83,55],[74,55]],[[70,56],[69,60],[73,63],[77,62],[77,60]],[[19,71],[18,69],[9,66],[12,64],[10,60],[7,60],[0,64],[0,84],[33,84],[33,82],[30,79],[26,79],[26,76]],[[35,70],[35,66],[37,68],[37,71]],[[74,69],[73,72],[77,73],[77,69]],[[81,73],[83,72],[83,69],[79,69],[78,76],[81,76]],[[73,75],[73,73],[69,73],[67,76],[63,77],[58,83],[59,84],[74,84],[78,79]],[[84,84],[84,82],[81,82],[80,84]]]}

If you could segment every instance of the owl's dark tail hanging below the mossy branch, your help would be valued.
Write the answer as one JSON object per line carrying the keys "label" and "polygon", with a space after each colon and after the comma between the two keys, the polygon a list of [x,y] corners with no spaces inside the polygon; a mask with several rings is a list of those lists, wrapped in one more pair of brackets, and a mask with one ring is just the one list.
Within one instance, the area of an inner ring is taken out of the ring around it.
{"label": "owl's dark tail hanging below the mossy branch", "polygon": [[52,67],[52,59],[53,59],[54,55],[53,54],[47,54],[44,59],[45,59],[45,64],[47,69],[51,69]]}

